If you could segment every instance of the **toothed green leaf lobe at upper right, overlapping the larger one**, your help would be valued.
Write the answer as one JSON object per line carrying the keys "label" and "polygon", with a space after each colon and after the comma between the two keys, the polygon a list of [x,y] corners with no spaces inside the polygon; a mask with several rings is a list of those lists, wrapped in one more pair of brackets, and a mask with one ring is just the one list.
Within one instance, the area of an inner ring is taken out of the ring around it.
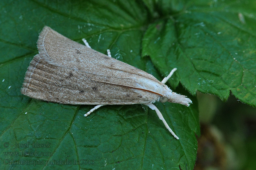
{"label": "toothed green leaf lobe at upper right, overlapping the larger one", "polygon": [[149,25],[143,55],[163,75],[177,67],[172,87],[181,82],[191,94],[198,90],[224,101],[231,91],[255,107],[255,1],[195,2]]}

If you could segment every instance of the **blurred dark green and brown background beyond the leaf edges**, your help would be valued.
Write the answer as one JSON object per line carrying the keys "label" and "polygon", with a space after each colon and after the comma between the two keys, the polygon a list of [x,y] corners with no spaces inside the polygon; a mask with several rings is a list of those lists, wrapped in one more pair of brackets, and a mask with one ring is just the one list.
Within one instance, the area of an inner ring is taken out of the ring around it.
{"label": "blurred dark green and brown background beyond the leaf edges", "polygon": [[256,168],[256,108],[197,92],[201,136],[195,170]]}

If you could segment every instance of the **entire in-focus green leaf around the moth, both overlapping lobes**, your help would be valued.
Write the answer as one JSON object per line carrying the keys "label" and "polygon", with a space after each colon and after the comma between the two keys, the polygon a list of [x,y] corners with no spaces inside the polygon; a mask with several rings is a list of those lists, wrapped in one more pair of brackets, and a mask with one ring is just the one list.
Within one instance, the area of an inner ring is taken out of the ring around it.
{"label": "entire in-focus green leaf around the moth, both overlapping lobes", "polygon": [[[197,101],[179,82],[192,94],[199,90],[221,99],[231,90],[255,106],[254,1],[143,2],[0,2],[1,169],[193,169]],[[159,80],[177,67],[169,83],[193,105],[156,106],[180,140],[143,105],[104,106],[85,118],[94,106],[21,95],[44,25],[80,43],[85,38],[99,52],[110,49],[114,58]],[[10,155],[16,152],[21,156]]]}

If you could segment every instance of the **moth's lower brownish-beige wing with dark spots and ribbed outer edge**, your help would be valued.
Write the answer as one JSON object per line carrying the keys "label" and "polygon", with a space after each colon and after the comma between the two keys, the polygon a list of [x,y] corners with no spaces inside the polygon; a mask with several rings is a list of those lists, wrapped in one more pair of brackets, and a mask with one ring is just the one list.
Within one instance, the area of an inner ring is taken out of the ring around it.
{"label": "moth's lower brownish-beige wing with dark spots and ribbed outer edge", "polygon": [[88,105],[145,103],[156,96],[92,80],[97,76],[51,65],[37,54],[30,62],[21,93],[50,102]]}

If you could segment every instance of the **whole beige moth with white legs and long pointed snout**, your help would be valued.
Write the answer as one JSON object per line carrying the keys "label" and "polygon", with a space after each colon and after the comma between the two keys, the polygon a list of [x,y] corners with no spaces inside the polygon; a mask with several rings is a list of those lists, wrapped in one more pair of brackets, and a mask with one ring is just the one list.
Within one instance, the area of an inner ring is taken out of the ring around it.
{"label": "whole beige moth with white legs and long pointed snout", "polygon": [[103,105],[144,104],[155,110],[166,128],[179,139],[164,120],[156,101],[189,106],[185,95],[165,85],[176,68],[161,82],[154,76],[85,45],[72,41],[48,26],[41,31],[36,54],[26,71],[21,93],[62,104]]}

